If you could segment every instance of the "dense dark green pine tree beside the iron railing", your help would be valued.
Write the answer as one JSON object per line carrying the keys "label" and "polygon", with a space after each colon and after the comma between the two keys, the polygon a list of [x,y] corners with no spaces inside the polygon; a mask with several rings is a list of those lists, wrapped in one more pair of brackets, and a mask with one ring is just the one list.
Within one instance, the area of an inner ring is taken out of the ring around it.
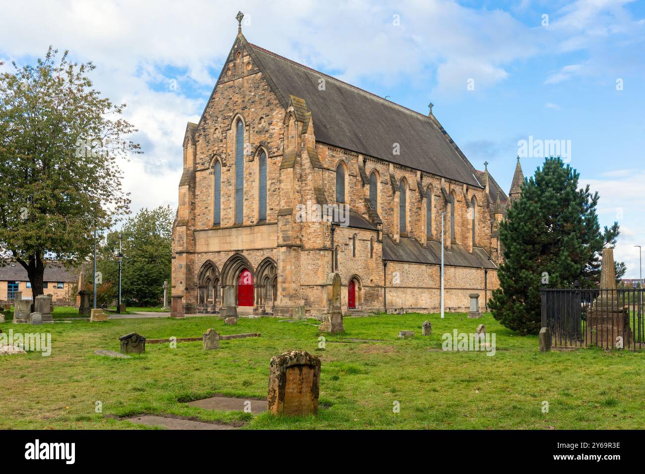
{"label": "dense dark green pine tree beside the iron railing", "polygon": [[600,254],[615,244],[618,223],[600,230],[598,193],[579,189],[579,173],[560,158],[547,158],[542,169],[522,184],[501,222],[504,263],[493,291],[493,317],[522,335],[541,326],[542,284],[571,288],[579,281],[593,288],[599,281]]}

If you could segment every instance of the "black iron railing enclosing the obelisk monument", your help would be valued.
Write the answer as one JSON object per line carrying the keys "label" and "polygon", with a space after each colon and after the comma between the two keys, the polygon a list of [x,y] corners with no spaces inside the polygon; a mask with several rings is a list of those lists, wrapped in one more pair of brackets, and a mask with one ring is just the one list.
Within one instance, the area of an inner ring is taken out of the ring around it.
{"label": "black iron railing enclosing the obelisk monument", "polygon": [[542,327],[549,328],[553,346],[645,346],[645,290],[544,288],[541,295]]}

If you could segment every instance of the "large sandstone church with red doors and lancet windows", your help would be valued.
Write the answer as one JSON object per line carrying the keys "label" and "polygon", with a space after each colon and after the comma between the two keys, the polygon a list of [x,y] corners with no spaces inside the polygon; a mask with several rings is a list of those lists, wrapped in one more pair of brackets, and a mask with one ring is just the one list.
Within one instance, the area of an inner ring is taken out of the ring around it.
{"label": "large sandstone church with red doors and lancet windows", "polygon": [[[241,14],[237,19],[241,25]],[[188,123],[173,227],[185,313],[315,317],[338,272],[350,313],[484,308],[499,286],[506,195],[432,113],[260,46],[239,26],[199,123]],[[443,225],[442,225],[443,216]]]}

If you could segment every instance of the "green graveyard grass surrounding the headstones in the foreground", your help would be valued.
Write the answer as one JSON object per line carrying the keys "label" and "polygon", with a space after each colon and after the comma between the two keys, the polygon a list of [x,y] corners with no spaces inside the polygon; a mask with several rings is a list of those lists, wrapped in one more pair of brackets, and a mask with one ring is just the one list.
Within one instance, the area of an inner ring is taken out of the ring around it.
{"label": "green graveyard grass surrounding the headstones in the foreground", "polygon": [[[421,323],[432,322],[432,336]],[[172,414],[206,422],[244,422],[243,429],[640,429],[645,353],[598,348],[540,353],[537,336],[521,337],[491,317],[465,314],[375,315],[344,319],[344,333],[324,334],[318,321],[217,317],[74,321],[46,326],[1,324],[3,331],[51,331],[52,354],[0,357],[2,429],[151,429],[123,420]],[[474,333],[486,324],[497,353],[442,351],[442,334]],[[135,331],[148,339],[259,332],[260,338],[146,344],[132,359],[94,355],[119,350],[118,337]],[[400,340],[400,330],[413,339]],[[379,339],[349,342],[348,339]],[[215,394],[266,397],[269,360],[288,350],[322,360],[317,417],[274,417],[193,408],[185,402]],[[430,350],[429,350],[430,349]],[[549,404],[542,412],[542,402]],[[100,401],[103,412],[95,413]],[[399,402],[400,412],[393,412]]]}

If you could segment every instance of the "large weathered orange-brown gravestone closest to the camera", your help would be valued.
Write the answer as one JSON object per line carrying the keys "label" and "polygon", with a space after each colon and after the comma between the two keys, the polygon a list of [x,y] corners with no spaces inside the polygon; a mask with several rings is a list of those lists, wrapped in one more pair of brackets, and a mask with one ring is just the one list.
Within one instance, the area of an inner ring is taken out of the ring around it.
{"label": "large weathered orange-brown gravestone closest to the camera", "polygon": [[318,413],[321,360],[306,351],[289,351],[271,358],[267,410],[274,415]]}

